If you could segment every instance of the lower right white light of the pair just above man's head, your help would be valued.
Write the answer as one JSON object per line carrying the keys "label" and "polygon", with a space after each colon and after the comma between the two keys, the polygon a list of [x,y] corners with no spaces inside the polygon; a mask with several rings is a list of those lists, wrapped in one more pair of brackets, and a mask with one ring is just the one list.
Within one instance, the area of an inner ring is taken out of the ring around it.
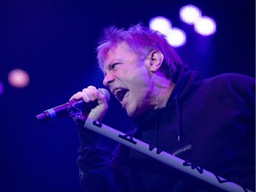
{"label": "lower right white light of the pair just above man's head", "polygon": [[170,28],[166,33],[167,41],[173,47],[178,47],[186,43],[186,34],[180,28]]}

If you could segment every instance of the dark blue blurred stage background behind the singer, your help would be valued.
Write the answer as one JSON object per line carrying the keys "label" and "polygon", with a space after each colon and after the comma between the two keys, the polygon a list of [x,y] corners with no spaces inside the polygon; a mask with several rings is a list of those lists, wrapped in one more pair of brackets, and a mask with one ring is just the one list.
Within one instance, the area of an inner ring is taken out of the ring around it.
{"label": "dark blue blurred stage background behind the singer", "polygon": [[[215,21],[209,36],[180,18],[193,4]],[[255,76],[253,0],[2,0],[0,2],[0,191],[82,191],[76,165],[76,125],[35,116],[68,101],[88,85],[102,87],[95,47],[102,28],[127,28],[162,16],[186,41],[180,57],[202,76]],[[112,97],[103,123],[133,126]],[[112,148],[116,143],[106,140]]]}

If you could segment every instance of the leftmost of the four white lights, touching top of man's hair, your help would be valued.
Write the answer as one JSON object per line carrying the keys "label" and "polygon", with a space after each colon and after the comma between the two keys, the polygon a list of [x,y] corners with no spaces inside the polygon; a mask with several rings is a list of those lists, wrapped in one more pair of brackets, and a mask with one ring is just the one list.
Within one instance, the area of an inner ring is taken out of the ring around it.
{"label": "leftmost of the four white lights, touching top of man's hair", "polygon": [[172,28],[172,22],[162,16],[158,16],[149,21],[149,28],[159,31],[165,35],[169,28]]}

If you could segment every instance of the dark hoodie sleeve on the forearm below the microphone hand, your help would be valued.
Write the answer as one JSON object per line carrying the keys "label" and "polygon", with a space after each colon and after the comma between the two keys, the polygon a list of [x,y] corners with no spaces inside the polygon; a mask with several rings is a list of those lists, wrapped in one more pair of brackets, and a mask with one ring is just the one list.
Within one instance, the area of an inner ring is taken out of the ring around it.
{"label": "dark hoodie sleeve on the forearm below the microphone hand", "polygon": [[116,181],[110,167],[110,155],[100,145],[100,135],[77,125],[80,148],[77,164],[85,192],[115,192]]}

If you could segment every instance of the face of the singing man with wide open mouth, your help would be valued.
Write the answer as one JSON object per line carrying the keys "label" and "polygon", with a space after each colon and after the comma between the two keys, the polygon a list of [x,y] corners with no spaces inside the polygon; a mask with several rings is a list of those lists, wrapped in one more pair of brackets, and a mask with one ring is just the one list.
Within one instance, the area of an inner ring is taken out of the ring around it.
{"label": "face of the singing man with wide open mouth", "polygon": [[118,44],[110,50],[104,63],[103,84],[108,86],[125,108],[128,116],[138,116],[152,108],[152,82],[147,68],[148,59],[140,62],[127,44]]}

